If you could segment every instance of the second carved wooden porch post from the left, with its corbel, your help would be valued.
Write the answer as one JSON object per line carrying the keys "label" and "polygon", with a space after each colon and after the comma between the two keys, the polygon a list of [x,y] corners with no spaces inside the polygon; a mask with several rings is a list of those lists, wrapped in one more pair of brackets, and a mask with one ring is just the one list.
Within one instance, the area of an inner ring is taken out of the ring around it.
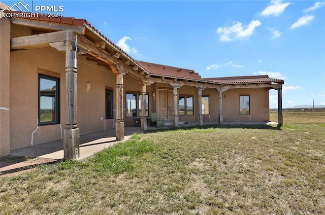
{"label": "second carved wooden porch post from the left, with its corbel", "polygon": [[124,116],[123,116],[123,76],[125,75],[124,69],[117,65],[110,65],[113,73],[116,75],[116,122],[115,122],[115,137],[116,140],[124,139]]}

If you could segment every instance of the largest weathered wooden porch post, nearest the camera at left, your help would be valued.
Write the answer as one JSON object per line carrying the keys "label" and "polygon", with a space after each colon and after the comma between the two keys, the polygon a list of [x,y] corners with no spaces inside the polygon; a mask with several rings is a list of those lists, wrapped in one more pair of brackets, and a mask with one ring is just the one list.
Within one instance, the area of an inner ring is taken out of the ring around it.
{"label": "largest weathered wooden porch post, nearest the camera at left", "polygon": [[[77,36],[76,36],[77,37]],[[66,50],[66,129],[63,136],[64,159],[79,158],[80,131],[77,126],[77,44]],[[67,41],[68,43],[68,41]]]}

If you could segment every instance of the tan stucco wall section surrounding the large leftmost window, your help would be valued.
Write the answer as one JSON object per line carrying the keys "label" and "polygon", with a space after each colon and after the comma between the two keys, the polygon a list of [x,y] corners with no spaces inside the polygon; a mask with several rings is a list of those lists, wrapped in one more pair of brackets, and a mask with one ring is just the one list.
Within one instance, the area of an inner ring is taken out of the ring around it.
{"label": "tan stucco wall section surrounding the large leftmost window", "polygon": [[11,52],[11,150],[62,138],[60,125],[38,126],[38,68],[47,69],[60,76],[62,122],[62,119],[64,119],[65,99],[64,93],[62,93],[64,92],[64,84],[62,83],[62,80],[64,80],[62,78],[62,74],[64,75],[64,60],[63,54],[48,48]]}

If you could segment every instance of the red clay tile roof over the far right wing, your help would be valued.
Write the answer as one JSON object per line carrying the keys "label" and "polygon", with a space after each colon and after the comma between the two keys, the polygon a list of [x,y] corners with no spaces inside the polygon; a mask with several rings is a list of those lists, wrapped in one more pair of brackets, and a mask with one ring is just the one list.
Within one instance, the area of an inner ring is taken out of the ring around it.
{"label": "red clay tile roof over the far right wing", "polygon": [[269,78],[264,76],[237,76],[237,77],[220,77],[220,78],[205,78],[205,80],[217,81],[223,84],[246,84],[246,83],[284,83],[281,79]]}

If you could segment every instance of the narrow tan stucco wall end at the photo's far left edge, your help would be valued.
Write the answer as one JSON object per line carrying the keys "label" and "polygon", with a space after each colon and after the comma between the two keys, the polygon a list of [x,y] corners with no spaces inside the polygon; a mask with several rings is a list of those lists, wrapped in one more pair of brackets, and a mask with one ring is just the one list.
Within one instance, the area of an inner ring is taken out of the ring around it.
{"label": "narrow tan stucco wall end at the photo's far left edge", "polygon": [[0,18],[0,156],[10,154],[9,63],[10,21],[9,18]]}

